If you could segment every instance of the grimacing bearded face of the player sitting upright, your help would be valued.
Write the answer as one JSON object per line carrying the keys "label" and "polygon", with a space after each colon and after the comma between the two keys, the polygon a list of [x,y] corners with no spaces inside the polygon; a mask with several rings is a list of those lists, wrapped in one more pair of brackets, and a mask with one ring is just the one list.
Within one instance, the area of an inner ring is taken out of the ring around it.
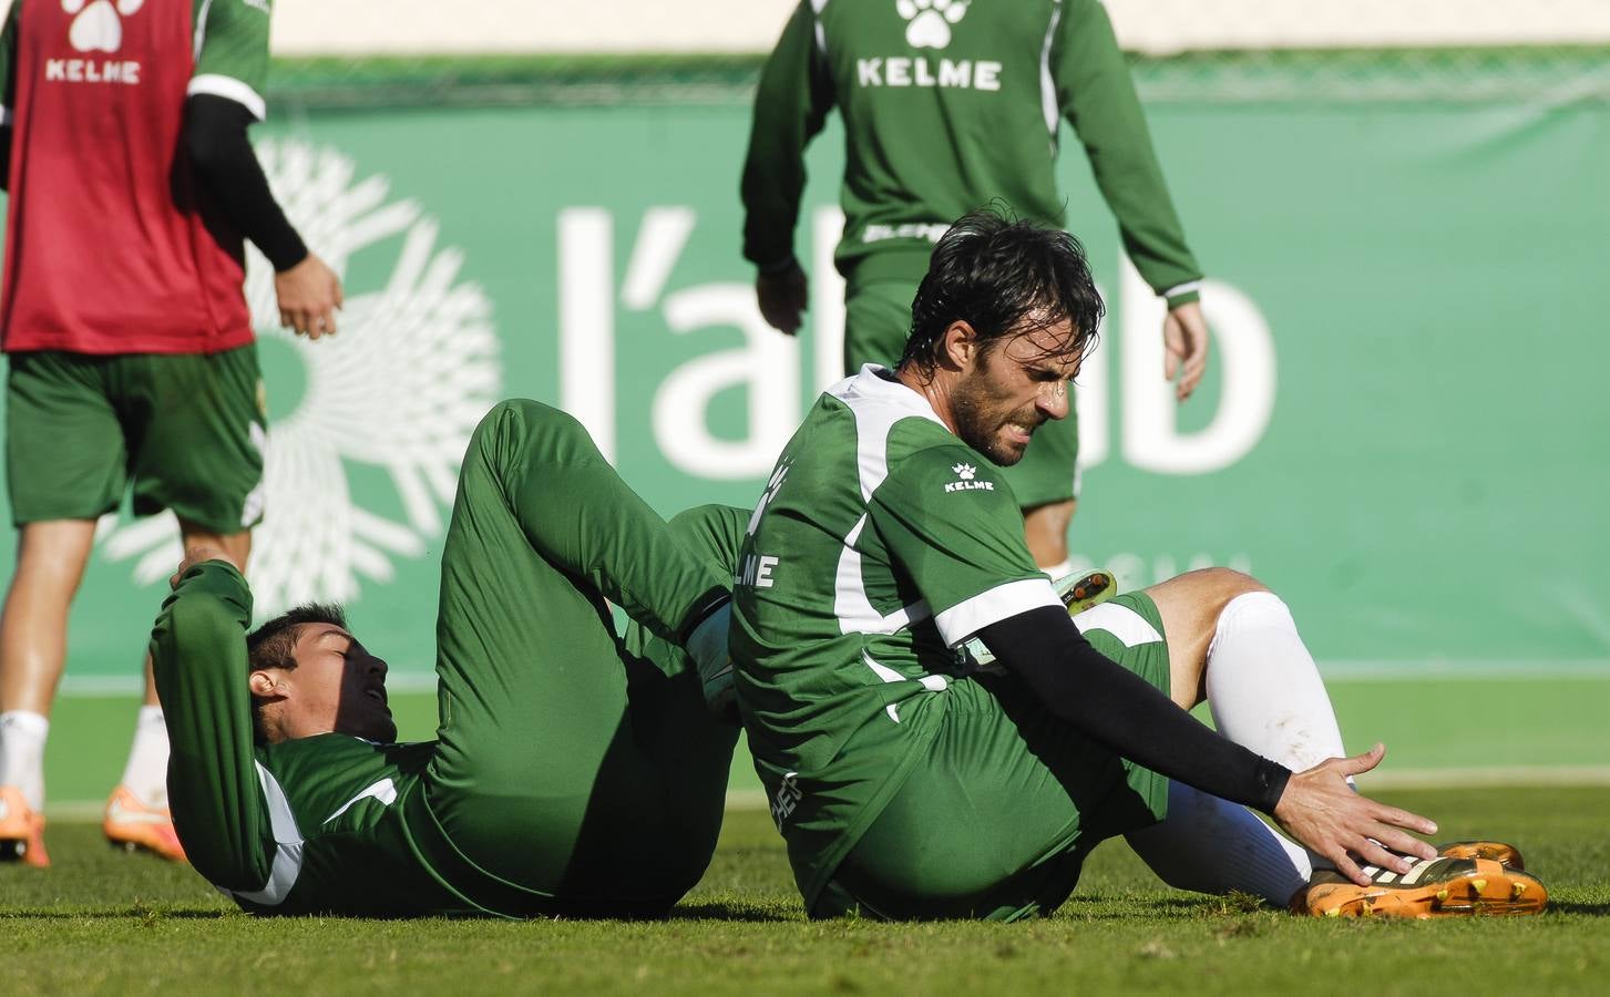
{"label": "grimacing bearded face of the player sitting upright", "polygon": [[1064,319],[977,351],[952,388],[956,435],[1003,467],[1021,461],[1040,424],[1067,416],[1067,382],[1080,362],[1079,354],[1059,353],[1069,337]]}

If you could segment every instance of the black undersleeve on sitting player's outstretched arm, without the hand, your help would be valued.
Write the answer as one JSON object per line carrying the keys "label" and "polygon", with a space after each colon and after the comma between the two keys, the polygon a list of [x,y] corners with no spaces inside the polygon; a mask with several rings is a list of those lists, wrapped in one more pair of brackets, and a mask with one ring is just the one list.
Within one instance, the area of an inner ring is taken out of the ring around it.
{"label": "black undersleeve on sitting player's outstretched arm, without the hand", "polygon": [[1291,770],[1208,730],[1143,678],[1090,646],[1058,607],[979,631],[997,660],[1063,720],[1170,780],[1274,813]]}

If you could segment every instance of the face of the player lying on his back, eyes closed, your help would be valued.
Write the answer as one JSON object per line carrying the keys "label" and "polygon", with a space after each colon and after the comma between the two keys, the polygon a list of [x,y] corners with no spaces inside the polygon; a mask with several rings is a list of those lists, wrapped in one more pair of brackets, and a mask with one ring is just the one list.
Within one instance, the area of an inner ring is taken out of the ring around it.
{"label": "face of the player lying on his back, eyes closed", "polygon": [[386,662],[357,638],[335,623],[309,623],[296,636],[293,656],[295,668],[274,670],[274,691],[282,697],[279,726],[287,738],[335,731],[396,741],[396,722],[386,704]]}

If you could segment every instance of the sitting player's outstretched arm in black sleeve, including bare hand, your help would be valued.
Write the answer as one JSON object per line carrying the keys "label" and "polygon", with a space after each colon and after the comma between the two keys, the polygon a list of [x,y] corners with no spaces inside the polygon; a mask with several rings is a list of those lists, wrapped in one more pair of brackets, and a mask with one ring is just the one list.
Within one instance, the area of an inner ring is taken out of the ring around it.
{"label": "sitting player's outstretched arm in black sleeve, including bare hand", "polygon": [[1360,796],[1346,781],[1375,768],[1385,755],[1380,746],[1367,755],[1331,759],[1291,773],[1220,738],[1104,657],[1061,609],[1040,607],[1008,617],[980,630],[979,638],[1063,720],[1170,780],[1269,813],[1360,886],[1368,879],[1349,854],[1397,871],[1407,871],[1409,863],[1388,847],[1435,857],[1435,849],[1406,829],[1428,834],[1436,825]]}

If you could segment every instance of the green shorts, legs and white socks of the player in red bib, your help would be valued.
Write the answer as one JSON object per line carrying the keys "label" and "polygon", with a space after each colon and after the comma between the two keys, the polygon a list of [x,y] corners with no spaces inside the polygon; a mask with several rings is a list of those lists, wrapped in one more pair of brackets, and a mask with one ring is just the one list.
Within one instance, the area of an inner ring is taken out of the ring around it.
{"label": "green shorts, legs and white socks of the player in red bib", "polygon": [[[43,799],[47,718],[66,660],[68,607],[97,517],[118,507],[132,480],[135,512],[172,509],[187,549],[200,536],[243,565],[262,477],[253,346],[217,354],[18,353],[10,366],[6,485],[19,552],[0,615],[0,797],[19,799],[0,817],[0,850]],[[167,731],[147,678],[122,784],[103,825],[108,838],[182,857],[166,817],[166,780]],[[43,863],[43,849],[24,860]]]}

